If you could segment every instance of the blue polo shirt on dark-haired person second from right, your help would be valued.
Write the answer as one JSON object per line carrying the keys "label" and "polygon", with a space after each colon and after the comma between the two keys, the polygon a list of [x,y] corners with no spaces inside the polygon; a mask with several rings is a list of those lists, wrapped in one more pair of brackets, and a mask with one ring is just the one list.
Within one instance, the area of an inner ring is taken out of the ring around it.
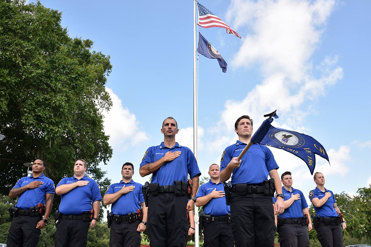
{"label": "blue polo shirt on dark-haired person second from right", "polygon": [[[301,192],[300,190],[294,189],[293,187],[291,187],[291,190],[292,191],[290,192],[290,191],[286,190],[285,187],[282,186],[282,194],[283,194],[283,196],[285,196],[285,198],[283,198],[283,200],[284,201],[289,200],[291,198],[291,193],[294,194],[294,195],[299,194],[300,199],[294,201],[291,204],[290,207],[285,209],[285,212],[283,212],[282,214],[279,214],[278,217],[280,217],[280,218],[286,218],[286,219],[288,219],[288,218],[291,218],[291,219],[301,218],[301,217],[303,217],[303,209],[308,207],[308,204],[306,203],[303,192]],[[308,215],[308,217],[309,217],[309,215]]]}

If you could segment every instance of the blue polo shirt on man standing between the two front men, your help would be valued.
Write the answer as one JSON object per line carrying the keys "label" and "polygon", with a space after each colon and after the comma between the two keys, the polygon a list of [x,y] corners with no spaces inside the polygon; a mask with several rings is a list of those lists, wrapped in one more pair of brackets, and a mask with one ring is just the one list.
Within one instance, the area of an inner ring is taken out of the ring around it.
{"label": "blue polo shirt on man standing between the two front men", "polygon": [[[204,183],[198,188],[196,199],[198,197],[206,196],[213,192],[216,188],[217,191],[223,190],[224,185],[222,182],[214,183],[209,180],[209,182]],[[206,205],[202,207],[205,214],[210,214],[213,216],[223,216],[230,212],[230,207],[226,204],[226,197],[213,198]]]}

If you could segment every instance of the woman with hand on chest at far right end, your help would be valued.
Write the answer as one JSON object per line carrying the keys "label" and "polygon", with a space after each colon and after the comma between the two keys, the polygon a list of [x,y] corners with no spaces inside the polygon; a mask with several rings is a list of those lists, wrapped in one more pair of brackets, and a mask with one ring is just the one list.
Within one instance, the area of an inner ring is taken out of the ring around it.
{"label": "woman with hand on chest at far right end", "polygon": [[309,199],[319,221],[316,229],[318,241],[322,247],[343,247],[342,229],[347,228],[347,222],[336,204],[334,193],[324,186],[324,175],[316,172],[313,178],[317,187],[309,192]]}

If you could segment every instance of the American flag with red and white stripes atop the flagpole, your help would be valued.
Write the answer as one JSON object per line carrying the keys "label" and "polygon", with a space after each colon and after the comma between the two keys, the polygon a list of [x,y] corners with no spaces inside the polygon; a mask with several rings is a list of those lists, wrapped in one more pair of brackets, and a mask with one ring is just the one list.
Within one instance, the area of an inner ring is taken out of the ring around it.
{"label": "American flag with red and white stripes atop the flagpole", "polygon": [[236,33],[230,26],[228,26],[224,21],[222,21],[219,17],[217,17],[213,12],[211,12],[209,9],[207,9],[202,4],[197,3],[197,9],[198,9],[198,21],[197,25],[204,28],[209,27],[221,27],[225,28],[227,30],[227,33],[232,33],[236,35],[236,37],[241,38],[241,36]]}

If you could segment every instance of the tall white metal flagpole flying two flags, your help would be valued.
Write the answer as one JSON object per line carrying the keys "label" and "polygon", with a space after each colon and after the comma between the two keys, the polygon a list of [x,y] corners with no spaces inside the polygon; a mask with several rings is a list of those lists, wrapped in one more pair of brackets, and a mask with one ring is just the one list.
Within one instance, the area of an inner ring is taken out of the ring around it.
{"label": "tall white metal flagpole flying two flags", "polygon": [[[197,160],[197,71],[196,71],[196,0],[193,0],[193,153]],[[194,204],[194,245],[199,247],[198,207]]]}

